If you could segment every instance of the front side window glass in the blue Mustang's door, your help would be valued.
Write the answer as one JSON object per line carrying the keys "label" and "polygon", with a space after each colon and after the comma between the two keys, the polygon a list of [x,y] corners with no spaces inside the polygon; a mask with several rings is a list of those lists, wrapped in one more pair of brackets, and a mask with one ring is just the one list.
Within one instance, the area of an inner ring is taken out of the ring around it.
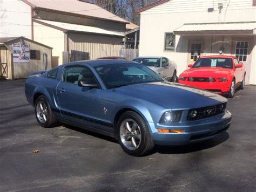
{"label": "front side window glass in the blue Mustang's door", "polygon": [[83,66],[71,66],[64,68],[62,81],[78,85],[79,80],[84,80],[88,84],[97,84],[91,70]]}

